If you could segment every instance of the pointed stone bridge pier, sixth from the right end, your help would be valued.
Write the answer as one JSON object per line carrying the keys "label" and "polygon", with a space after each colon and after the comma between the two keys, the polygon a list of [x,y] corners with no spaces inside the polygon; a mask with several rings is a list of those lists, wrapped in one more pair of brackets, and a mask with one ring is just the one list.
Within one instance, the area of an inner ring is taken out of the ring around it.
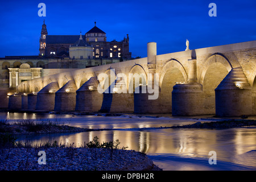
{"label": "pointed stone bridge pier, sixth from the right end", "polygon": [[76,83],[70,80],[55,93],[54,111],[74,111],[76,107]]}

